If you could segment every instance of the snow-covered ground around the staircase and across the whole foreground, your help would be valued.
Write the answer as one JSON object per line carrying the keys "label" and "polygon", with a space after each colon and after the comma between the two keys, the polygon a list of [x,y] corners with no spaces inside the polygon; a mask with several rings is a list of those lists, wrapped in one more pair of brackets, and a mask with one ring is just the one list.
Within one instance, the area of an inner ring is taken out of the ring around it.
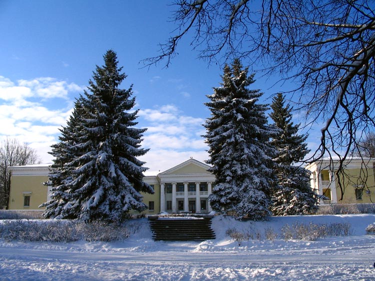
{"label": "snow-covered ground around the staircase and across the whole foreground", "polygon": [[[316,241],[264,240],[286,224],[349,223],[352,235]],[[217,216],[216,239],[202,243],[154,242],[147,221],[117,243],[22,243],[0,240],[0,281],[15,280],[375,280],[375,236],[365,228],[375,215],[273,217],[268,222],[237,222]],[[262,240],[242,242],[225,236],[228,228],[251,230]]]}

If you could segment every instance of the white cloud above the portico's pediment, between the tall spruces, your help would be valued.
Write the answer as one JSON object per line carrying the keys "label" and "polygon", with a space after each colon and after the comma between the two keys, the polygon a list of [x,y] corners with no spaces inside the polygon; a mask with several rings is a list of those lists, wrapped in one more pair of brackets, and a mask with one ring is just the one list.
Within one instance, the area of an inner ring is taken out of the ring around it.
{"label": "white cloud above the portico's pediment, between the tall spruces", "polygon": [[164,105],[158,109],[144,109],[139,116],[149,123],[144,133],[142,147],[150,150],[141,157],[150,168],[147,174],[157,174],[190,157],[198,161],[208,158],[202,118],[186,116],[175,105]]}

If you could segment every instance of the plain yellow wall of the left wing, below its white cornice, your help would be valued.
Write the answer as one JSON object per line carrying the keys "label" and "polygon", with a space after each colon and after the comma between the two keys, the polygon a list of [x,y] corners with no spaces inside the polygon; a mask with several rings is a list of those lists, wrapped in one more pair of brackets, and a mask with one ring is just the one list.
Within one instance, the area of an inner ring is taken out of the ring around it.
{"label": "plain yellow wall of the left wing, below its white cornice", "polygon": [[[12,176],[10,188],[10,210],[42,210],[39,205],[47,201],[47,187],[42,184],[47,176]],[[24,196],[30,196],[30,205],[23,206]]]}

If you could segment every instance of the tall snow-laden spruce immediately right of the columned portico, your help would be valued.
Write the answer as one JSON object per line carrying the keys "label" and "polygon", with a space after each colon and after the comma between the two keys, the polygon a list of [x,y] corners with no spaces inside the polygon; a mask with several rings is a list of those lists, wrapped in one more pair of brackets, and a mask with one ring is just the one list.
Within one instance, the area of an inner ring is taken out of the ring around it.
{"label": "tall snow-laden spruce immediately right of the columned portico", "polygon": [[275,149],[269,138],[274,133],[267,125],[266,105],[257,104],[262,93],[247,87],[254,82],[248,68],[238,59],[225,66],[221,87],[213,88],[205,105],[211,111],[204,127],[209,146],[208,164],[216,181],[209,196],[216,212],[237,218],[264,220],[269,212],[274,184]]}

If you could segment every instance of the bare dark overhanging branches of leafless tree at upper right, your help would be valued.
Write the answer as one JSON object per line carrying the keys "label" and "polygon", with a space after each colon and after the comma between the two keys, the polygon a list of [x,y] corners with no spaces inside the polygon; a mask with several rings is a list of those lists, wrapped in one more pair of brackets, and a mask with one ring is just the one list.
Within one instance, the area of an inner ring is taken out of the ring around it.
{"label": "bare dark overhanging branches of leafless tree at upper right", "polygon": [[[306,112],[306,125],[321,125],[311,160],[338,157],[343,170],[358,136],[375,127],[375,2],[373,0],[178,0],[176,35],[160,44],[168,66],[177,44],[192,33],[198,57],[234,57],[262,65],[290,80],[289,99]],[[359,138],[360,139],[360,138]],[[343,191],[341,192],[342,199]]]}

